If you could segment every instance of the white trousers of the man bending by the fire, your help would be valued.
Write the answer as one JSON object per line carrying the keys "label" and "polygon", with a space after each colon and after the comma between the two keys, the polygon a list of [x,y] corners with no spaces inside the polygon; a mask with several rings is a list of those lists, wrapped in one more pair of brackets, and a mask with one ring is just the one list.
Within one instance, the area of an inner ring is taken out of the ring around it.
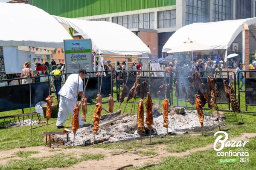
{"label": "white trousers of the man bending by the fire", "polygon": [[[71,118],[73,117],[73,109],[75,105],[76,105],[76,99],[72,100],[64,96],[61,96],[56,126],[62,126],[66,122],[68,113],[70,113]],[[84,122],[81,120],[81,116],[79,112],[79,126],[82,126],[83,124]]]}

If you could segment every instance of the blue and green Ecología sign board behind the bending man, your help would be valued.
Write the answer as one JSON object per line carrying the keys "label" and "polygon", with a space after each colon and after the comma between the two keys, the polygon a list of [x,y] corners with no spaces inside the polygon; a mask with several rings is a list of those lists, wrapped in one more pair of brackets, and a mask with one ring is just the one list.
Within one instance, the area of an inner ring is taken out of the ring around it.
{"label": "blue and green Ecolog\u00eda sign board behind the bending man", "polygon": [[93,68],[91,39],[64,40],[65,67],[67,73],[76,73],[80,68],[89,65]]}

